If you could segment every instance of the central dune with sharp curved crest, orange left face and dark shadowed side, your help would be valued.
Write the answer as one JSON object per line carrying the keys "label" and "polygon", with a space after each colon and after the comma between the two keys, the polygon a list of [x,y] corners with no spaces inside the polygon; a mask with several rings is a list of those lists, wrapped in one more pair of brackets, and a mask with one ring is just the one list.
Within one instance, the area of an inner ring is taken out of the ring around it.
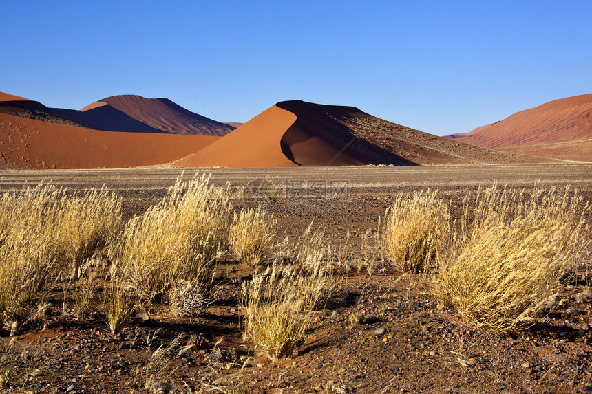
{"label": "central dune with sharp curved crest, orange left face and dark shadowed side", "polygon": [[180,167],[533,163],[387,122],[355,107],[284,101],[181,160]]}

